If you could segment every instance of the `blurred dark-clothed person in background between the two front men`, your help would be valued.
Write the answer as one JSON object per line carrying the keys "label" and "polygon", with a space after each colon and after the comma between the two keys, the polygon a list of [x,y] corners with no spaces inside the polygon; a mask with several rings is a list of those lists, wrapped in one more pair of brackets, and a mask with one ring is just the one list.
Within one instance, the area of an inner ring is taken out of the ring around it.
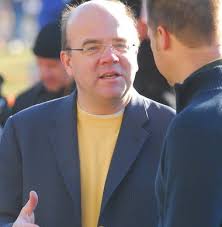
{"label": "blurred dark-clothed person in background between the two front men", "polygon": [[150,48],[150,41],[147,36],[146,1],[122,1],[127,2],[134,9],[137,17],[137,29],[141,40],[138,52],[139,70],[136,74],[134,87],[140,94],[175,108],[174,90],[158,71]]}

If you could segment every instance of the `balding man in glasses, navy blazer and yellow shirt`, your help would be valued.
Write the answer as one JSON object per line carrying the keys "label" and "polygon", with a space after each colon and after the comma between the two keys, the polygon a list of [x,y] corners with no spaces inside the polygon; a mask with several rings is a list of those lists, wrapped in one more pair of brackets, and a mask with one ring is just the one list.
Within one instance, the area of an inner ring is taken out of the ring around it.
{"label": "balding man in glasses, navy blazer and yellow shirt", "polygon": [[77,91],[7,121],[0,226],[153,227],[154,179],[174,111],[133,89],[134,19],[120,2],[93,0],[66,11],[62,31],[61,60]]}

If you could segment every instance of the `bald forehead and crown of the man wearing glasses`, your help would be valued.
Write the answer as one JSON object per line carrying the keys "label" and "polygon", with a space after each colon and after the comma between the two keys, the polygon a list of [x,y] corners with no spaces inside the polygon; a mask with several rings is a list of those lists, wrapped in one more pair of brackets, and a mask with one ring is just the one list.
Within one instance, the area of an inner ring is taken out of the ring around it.
{"label": "bald forehead and crown of the man wearing glasses", "polygon": [[[128,40],[129,34],[137,36],[133,20],[127,15],[122,5],[112,2],[111,7],[102,5],[104,0],[92,0],[78,6],[72,12],[68,21],[69,40],[112,39],[123,38]],[[114,3],[114,5],[113,5]],[[120,9],[119,9],[120,6]],[[122,13],[113,10],[116,7]],[[124,5],[123,5],[124,7]],[[99,35],[100,34],[100,35]],[[132,35],[133,38],[137,38]],[[131,38],[130,38],[131,39]]]}

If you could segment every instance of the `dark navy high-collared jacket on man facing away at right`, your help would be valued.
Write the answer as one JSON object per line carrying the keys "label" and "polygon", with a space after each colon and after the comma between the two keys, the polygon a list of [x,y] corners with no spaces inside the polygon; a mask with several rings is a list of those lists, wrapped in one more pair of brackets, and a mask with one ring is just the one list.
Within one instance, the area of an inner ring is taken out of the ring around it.
{"label": "dark navy high-collared jacket on man facing away at right", "polygon": [[159,227],[222,226],[222,60],[176,87],[157,176]]}

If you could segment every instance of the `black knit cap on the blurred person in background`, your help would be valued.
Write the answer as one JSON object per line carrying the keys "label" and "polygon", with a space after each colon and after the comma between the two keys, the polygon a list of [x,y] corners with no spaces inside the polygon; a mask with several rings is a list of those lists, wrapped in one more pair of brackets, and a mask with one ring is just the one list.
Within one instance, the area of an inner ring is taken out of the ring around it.
{"label": "black knit cap on the blurred person in background", "polygon": [[37,57],[59,59],[61,32],[57,23],[45,25],[37,35],[33,52]]}

